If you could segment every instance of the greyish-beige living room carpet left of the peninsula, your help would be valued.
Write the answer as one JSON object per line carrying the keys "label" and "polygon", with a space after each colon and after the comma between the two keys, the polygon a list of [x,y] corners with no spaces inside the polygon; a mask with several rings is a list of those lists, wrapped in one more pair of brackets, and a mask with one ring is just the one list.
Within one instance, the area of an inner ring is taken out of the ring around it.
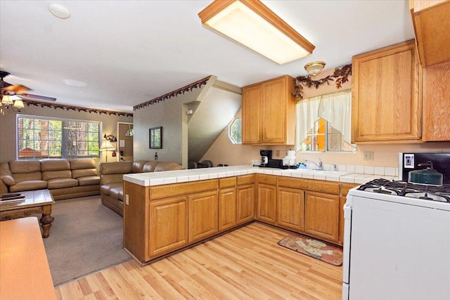
{"label": "greyish-beige living room carpet left of the peninsula", "polygon": [[53,285],[128,261],[123,219],[101,204],[100,196],[58,200],[50,236],[44,239]]}

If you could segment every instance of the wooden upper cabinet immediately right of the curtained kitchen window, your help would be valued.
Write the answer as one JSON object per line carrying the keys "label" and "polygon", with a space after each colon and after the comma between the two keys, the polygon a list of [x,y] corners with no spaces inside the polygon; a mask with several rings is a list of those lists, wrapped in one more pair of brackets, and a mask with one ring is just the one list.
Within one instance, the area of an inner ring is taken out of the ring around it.
{"label": "wooden upper cabinet immediately right of the curtained kitchen window", "polygon": [[420,67],[414,41],[352,60],[352,142],[420,140]]}

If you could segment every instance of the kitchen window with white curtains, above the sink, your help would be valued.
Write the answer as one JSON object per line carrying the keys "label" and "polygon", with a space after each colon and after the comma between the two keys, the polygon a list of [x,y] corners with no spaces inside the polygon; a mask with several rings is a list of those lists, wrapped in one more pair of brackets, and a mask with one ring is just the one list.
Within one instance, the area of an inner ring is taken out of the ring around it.
{"label": "kitchen window with white curtains, above the sink", "polygon": [[352,92],[330,93],[297,103],[297,151],[354,151]]}

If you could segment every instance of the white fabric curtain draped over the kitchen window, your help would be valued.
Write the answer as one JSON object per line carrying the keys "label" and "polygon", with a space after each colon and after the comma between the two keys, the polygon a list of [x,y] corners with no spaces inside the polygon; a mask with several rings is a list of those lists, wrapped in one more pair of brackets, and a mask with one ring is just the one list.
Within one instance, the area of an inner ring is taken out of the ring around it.
{"label": "white fabric curtain draped over the kitchen window", "polygon": [[297,116],[295,141],[297,150],[307,138],[308,131],[313,129],[319,118],[327,122],[342,133],[344,141],[351,143],[352,137],[352,91],[339,91],[323,96],[317,96],[300,101],[296,105]]}

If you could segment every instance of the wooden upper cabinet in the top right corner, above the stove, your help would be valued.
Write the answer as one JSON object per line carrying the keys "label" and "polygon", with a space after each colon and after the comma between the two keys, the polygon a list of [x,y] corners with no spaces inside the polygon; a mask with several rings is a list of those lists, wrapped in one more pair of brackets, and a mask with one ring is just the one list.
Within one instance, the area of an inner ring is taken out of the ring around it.
{"label": "wooden upper cabinet in the top right corner, above the stove", "polygon": [[410,0],[422,67],[450,62],[450,1]]}

